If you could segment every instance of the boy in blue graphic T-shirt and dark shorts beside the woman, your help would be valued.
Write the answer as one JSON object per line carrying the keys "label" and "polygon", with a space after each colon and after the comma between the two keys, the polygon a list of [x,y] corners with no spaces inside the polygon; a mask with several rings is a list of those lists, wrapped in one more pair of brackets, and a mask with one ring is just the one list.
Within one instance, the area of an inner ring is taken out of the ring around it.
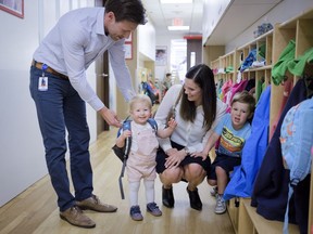
{"label": "boy in blue graphic T-shirt and dark shorts beside the woman", "polygon": [[203,158],[206,158],[211,148],[221,139],[216,158],[208,174],[208,183],[212,186],[217,185],[215,188],[217,191],[215,213],[226,211],[223,194],[229,181],[229,172],[241,164],[242,148],[251,133],[248,119],[253,115],[255,100],[247,91],[238,92],[234,95],[230,106],[230,114],[226,114],[218,122],[201,154]]}

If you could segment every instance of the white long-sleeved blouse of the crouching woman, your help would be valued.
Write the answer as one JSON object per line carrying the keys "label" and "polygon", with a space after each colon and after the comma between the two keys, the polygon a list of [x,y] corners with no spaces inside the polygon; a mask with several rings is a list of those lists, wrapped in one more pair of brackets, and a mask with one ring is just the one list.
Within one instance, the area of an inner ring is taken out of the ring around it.
{"label": "white long-sleeved blouse of the crouching woman", "polygon": [[[162,100],[154,119],[158,122],[159,128],[163,129],[166,125],[166,118],[170,113],[170,109],[173,107],[177,96],[181,90],[181,84],[172,86],[171,89],[166,92],[166,95]],[[209,131],[203,128],[203,108],[202,105],[197,107],[197,115],[193,122],[185,121],[179,115],[180,102],[176,106],[175,120],[177,127],[175,128],[171,140],[177,144],[180,144],[188,148],[190,153],[202,152],[204,145],[208,142],[209,135],[213,132],[212,129],[215,128],[220,119],[226,113],[226,104],[217,99],[216,107],[216,118]],[[172,148],[170,139],[158,139],[160,146],[163,151]]]}

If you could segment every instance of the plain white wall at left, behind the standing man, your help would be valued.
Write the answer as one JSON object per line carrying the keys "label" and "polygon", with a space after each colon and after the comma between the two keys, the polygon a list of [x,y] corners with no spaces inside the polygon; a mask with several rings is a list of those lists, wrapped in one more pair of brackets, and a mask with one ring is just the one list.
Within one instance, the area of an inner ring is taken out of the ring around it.
{"label": "plain white wall at left, behind the standing man", "polygon": [[[33,53],[60,15],[71,8],[93,5],[93,0],[64,2],[25,1],[24,18],[0,11],[0,206],[47,174],[42,139],[28,89]],[[87,74],[96,88],[95,66]],[[92,142],[97,136],[96,112],[88,107],[87,115]]]}

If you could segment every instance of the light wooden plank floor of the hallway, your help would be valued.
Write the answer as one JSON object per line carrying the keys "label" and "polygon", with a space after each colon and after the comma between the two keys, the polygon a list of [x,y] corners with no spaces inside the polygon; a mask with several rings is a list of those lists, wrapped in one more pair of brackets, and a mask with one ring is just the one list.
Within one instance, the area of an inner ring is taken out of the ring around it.
{"label": "light wooden plank floor of the hallway", "polygon": [[42,178],[21,195],[0,208],[0,234],[234,234],[228,213],[215,214],[215,199],[210,196],[211,187],[203,182],[198,188],[203,203],[202,211],[190,208],[186,192],[186,183],[174,185],[175,208],[162,206],[162,185],[159,178],[155,181],[155,202],[163,211],[162,217],[152,217],[146,212],[145,191],[141,184],[139,204],[143,221],[133,221],[129,218],[127,178],[123,179],[125,199],[121,199],[118,176],[121,161],[113,154],[116,130],[103,132],[99,140],[90,145],[91,164],[93,168],[95,194],[101,200],[118,207],[115,213],[98,213],[85,211],[96,223],[91,230],[70,225],[59,218],[57,196],[52,190],[49,177]]}

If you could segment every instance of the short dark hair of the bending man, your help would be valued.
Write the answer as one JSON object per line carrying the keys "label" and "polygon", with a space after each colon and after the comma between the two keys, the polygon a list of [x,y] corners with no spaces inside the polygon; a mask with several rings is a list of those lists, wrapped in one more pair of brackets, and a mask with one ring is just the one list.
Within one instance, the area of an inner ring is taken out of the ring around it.
{"label": "short dark hair of the bending man", "polygon": [[145,25],[146,10],[140,0],[108,0],[105,13],[113,12],[116,22],[128,21],[135,24]]}

